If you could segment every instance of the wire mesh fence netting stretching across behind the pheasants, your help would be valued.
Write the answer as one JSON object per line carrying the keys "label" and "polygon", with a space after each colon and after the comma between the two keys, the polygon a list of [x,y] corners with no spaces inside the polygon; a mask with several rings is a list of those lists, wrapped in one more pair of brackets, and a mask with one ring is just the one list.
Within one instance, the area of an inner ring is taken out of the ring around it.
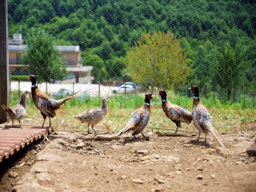
{"label": "wire mesh fence netting stretching across behind the pheasants", "polygon": [[[218,129],[255,129],[255,7],[240,0],[9,0],[10,105],[35,75],[54,99],[81,91],[56,112],[59,129],[84,129],[74,115],[101,106],[103,97],[109,112],[97,129],[120,129],[147,92],[155,95],[148,127],[174,128],[157,92],[192,111],[187,89],[195,84]],[[24,122],[41,124],[32,99],[27,107]]]}

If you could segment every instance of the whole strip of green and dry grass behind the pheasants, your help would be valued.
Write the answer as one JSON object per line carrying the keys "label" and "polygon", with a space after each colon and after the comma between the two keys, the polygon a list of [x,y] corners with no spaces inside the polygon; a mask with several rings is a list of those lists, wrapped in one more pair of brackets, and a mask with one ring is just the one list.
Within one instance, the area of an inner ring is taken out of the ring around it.
{"label": "whole strip of green and dry grass behind the pheasants", "polygon": [[[122,129],[126,125],[132,112],[144,104],[144,94],[129,95],[127,97],[116,95],[109,99],[109,112],[106,118],[95,126],[98,130]],[[177,96],[173,93],[168,93],[168,99],[172,103],[192,111],[193,97]],[[222,104],[221,101],[213,97],[209,99],[201,97],[201,100],[213,117],[213,126],[220,133],[241,133],[245,136],[256,134],[255,109],[249,107],[244,108],[245,104],[240,103]],[[10,105],[13,106],[18,101],[18,91],[13,91]],[[147,127],[175,129],[175,124],[165,116],[161,105],[160,96],[154,96],[151,101],[152,116],[150,117],[150,122]],[[73,99],[64,104],[60,110],[56,111],[56,116],[52,119],[52,124],[56,130],[87,130],[87,125],[81,124],[80,121],[73,116],[80,114],[85,109],[92,109],[96,106],[101,106],[101,102],[99,102],[98,98],[86,97],[84,99]],[[27,99],[27,108],[28,111],[24,123],[42,124],[43,117],[33,104],[32,99]],[[46,125],[47,124],[48,119],[46,120]],[[151,130],[157,131],[158,129]],[[179,130],[198,132],[193,124],[182,124],[182,128],[179,128]],[[167,132],[164,130],[160,131]]]}

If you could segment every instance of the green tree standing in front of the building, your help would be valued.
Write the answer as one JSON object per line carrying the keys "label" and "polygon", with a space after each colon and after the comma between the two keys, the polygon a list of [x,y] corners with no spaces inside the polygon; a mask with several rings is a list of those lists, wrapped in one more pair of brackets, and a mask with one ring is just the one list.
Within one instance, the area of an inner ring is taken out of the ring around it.
{"label": "green tree standing in front of the building", "polygon": [[26,49],[22,63],[29,64],[29,72],[37,75],[38,82],[62,79],[65,76],[65,63],[56,50],[54,38],[44,30],[33,30],[26,38]]}

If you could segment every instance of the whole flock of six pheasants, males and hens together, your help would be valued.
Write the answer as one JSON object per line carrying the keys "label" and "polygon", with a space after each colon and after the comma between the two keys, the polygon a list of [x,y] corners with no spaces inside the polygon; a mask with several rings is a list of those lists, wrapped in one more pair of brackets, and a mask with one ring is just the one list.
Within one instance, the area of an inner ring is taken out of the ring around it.
{"label": "whole flock of six pheasants, males and hens together", "polygon": [[[60,106],[64,104],[66,101],[76,98],[79,93],[77,92],[66,98],[55,100],[48,96],[46,93],[44,93],[40,88],[38,88],[35,76],[30,75],[28,80],[31,81],[31,92],[25,91],[22,94],[21,100],[18,102],[18,104],[11,108],[1,105],[1,107],[8,114],[8,117],[10,118],[12,123],[15,120],[18,120],[20,123],[20,120],[25,117],[26,96],[29,94],[32,95],[35,106],[41,111],[41,114],[43,116],[43,127],[46,121],[46,117],[49,117],[49,126],[51,126],[51,118],[56,116],[55,111],[59,109]],[[193,121],[195,128],[198,129],[199,132],[197,141],[199,140],[199,136],[201,133],[205,134],[206,141],[206,135],[208,134],[208,132],[210,132],[213,135],[214,139],[219,142],[221,147],[225,148],[218,132],[212,126],[210,114],[200,101],[199,88],[197,86],[190,86],[188,89],[191,90],[194,94],[192,113],[187,109],[172,104],[170,101],[168,101],[166,91],[160,90],[158,92],[162,99],[162,109],[165,115],[176,124],[175,133],[177,132],[178,128],[181,127],[181,123],[190,124]],[[121,131],[119,131],[117,136],[121,136],[125,132],[133,131],[132,136],[135,137],[136,135],[141,133],[142,136],[146,140],[148,140],[148,138],[143,134],[142,131],[147,126],[147,123],[151,116],[150,100],[152,98],[152,93],[148,93],[145,95],[144,106],[142,106],[141,108],[139,108],[131,114],[126,126]],[[74,116],[74,118],[79,119],[81,123],[87,124],[88,134],[90,134],[90,125],[91,129],[94,131],[94,134],[97,134],[97,132],[94,129],[94,126],[101,122],[106,116],[108,112],[108,101],[109,99],[107,97],[104,97],[102,100],[102,107],[95,107],[91,110],[86,109],[81,114]]]}

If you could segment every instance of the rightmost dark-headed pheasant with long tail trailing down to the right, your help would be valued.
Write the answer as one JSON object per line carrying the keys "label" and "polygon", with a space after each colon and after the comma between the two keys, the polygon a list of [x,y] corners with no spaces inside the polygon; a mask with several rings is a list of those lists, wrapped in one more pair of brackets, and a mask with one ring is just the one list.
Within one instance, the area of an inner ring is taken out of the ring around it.
{"label": "rightmost dark-headed pheasant with long tail trailing down to the right", "polygon": [[211,132],[214,139],[219,142],[221,147],[225,148],[224,144],[221,142],[221,138],[218,135],[218,132],[215,131],[214,127],[212,126],[211,117],[208,113],[205,106],[203,106],[202,102],[199,98],[199,88],[197,86],[191,86],[188,88],[189,90],[193,91],[194,93],[194,100],[193,100],[193,124],[195,125],[195,128],[198,129],[199,135],[197,141],[199,141],[199,136],[201,132],[205,134],[205,141],[206,141],[206,135],[208,134],[208,131]]}

